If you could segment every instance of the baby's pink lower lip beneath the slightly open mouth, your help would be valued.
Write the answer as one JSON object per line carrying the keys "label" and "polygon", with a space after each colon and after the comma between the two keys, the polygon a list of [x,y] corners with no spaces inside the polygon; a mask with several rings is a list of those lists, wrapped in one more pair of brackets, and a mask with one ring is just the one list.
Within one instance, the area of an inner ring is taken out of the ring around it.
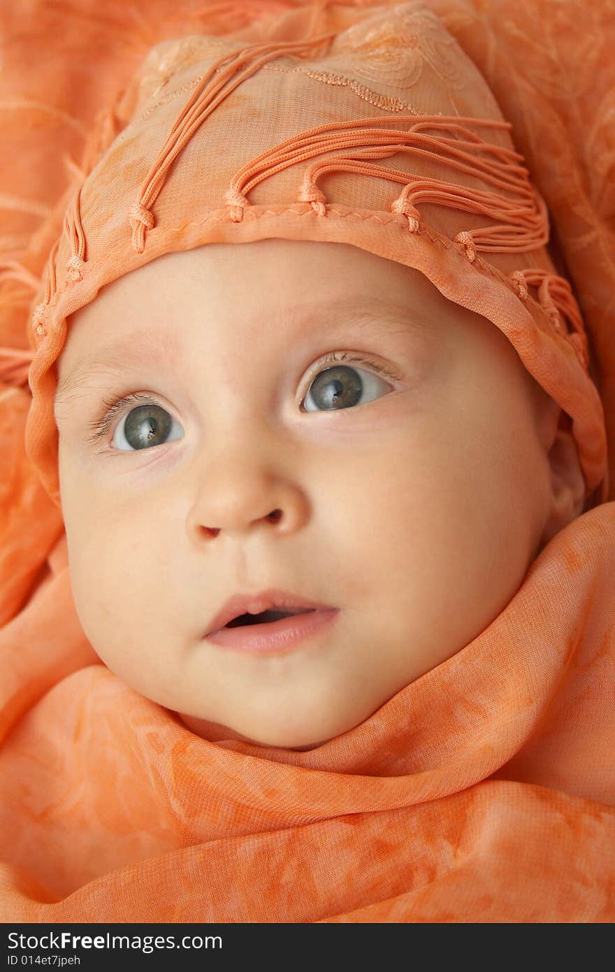
{"label": "baby's pink lower lip beneath the slightly open mouth", "polygon": [[224,648],[236,648],[255,654],[289,651],[310,636],[320,633],[338,614],[339,608],[310,610],[265,624],[221,628],[220,631],[207,635],[205,640],[221,644]]}

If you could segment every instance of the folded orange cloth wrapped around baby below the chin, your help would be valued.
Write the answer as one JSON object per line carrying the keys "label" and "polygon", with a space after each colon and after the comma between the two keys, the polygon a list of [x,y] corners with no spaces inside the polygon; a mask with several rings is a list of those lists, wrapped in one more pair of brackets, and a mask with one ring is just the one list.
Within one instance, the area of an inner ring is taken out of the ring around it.
{"label": "folded orange cloth wrapped around baby below the chin", "polygon": [[[475,920],[492,879],[483,920],[612,920],[614,503],[553,538],[474,641],[305,752],[195,736],[92,664],[76,621],[70,650],[44,642],[67,573],[7,665],[3,920]],[[523,889],[564,874],[565,905],[532,897],[531,918]]]}

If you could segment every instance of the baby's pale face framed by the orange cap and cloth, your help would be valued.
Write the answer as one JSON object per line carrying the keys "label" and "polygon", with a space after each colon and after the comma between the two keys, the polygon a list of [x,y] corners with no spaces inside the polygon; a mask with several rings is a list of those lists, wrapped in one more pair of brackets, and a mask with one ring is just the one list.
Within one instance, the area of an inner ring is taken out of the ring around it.
{"label": "baby's pale face framed by the orange cap and cloth", "polygon": [[[544,541],[551,399],[495,325],[355,247],[154,260],[73,315],[58,377],[85,635],[207,739],[353,728],[482,632]],[[267,588],[337,614],[282,652],[205,638]]]}

